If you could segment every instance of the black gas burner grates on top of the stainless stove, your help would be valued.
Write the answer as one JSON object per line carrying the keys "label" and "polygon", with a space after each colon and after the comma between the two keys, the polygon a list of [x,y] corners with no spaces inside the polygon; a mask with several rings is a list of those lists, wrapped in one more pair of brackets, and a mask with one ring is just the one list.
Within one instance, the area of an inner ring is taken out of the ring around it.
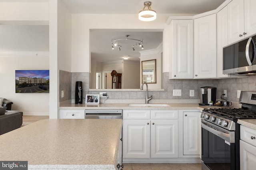
{"label": "black gas burner grates on top of the stainless stove", "polygon": [[256,118],[256,111],[246,110],[246,109],[236,109],[236,108],[214,108],[205,109],[209,113],[218,115],[220,117],[225,117],[227,119],[253,119]]}

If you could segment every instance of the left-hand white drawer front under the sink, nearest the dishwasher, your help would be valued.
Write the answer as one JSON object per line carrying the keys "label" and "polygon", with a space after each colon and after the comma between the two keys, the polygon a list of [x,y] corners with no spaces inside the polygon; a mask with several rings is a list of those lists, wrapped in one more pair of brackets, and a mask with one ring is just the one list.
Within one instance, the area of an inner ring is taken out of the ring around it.
{"label": "left-hand white drawer front under the sink, nearest the dishwasher", "polygon": [[150,110],[123,110],[123,119],[150,119]]}

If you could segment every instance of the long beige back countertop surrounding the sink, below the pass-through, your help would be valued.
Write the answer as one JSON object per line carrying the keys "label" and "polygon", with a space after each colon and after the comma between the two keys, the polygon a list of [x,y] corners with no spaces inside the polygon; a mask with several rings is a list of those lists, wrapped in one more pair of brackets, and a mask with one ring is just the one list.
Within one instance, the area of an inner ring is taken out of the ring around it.
{"label": "long beige back countertop surrounding the sink, below the pass-through", "polygon": [[[99,104],[99,105],[86,105],[86,104],[75,104],[70,102],[62,102],[60,104],[59,109],[123,109],[123,110],[144,110],[144,109],[162,109],[162,110],[168,110],[168,109],[179,109],[179,110],[202,110],[206,107],[201,107],[198,105],[198,103],[162,103],[167,104],[170,107],[131,107],[129,104],[140,104],[140,103],[105,103],[105,104]],[[143,104],[143,103],[141,103]],[[151,103],[154,104],[161,104],[161,103]]]}

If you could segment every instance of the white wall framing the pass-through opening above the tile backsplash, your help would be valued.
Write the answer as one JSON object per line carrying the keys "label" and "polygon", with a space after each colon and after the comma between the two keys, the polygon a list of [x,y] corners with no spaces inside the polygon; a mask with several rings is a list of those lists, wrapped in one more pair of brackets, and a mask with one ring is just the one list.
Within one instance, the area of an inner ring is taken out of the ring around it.
{"label": "white wall framing the pass-through opening above the tile backsplash", "polygon": [[72,14],[72,72],[90,72],[90,29],[163,30],[163,72],[168,72],[170,26],[168,14],[158,14],[152,22],[138,20],[137,14]]}

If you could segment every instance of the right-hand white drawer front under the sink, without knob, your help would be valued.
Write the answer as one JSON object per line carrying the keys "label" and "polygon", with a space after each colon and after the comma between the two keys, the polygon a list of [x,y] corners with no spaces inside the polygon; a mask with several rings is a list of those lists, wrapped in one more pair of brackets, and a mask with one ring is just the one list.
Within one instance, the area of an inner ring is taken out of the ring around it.
{"label": "right-hand white drawer front under the sink, without knob", "polygon": [[178,119],[178,110],[152,110],[151,119]]}

